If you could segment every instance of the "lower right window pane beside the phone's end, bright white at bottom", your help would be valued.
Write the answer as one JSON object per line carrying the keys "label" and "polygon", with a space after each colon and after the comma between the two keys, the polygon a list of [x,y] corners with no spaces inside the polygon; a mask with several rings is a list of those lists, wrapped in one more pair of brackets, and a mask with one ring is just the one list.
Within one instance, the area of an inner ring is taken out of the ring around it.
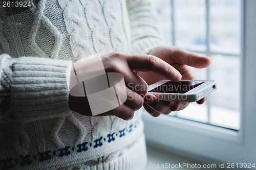
{"label": "lower right window pane beside the phone's end, bright white at bottom", "polygon": [[240,58],[211,56],[210,79],[216,80],[218,90],[210,94],[210,123],[240,128]]}

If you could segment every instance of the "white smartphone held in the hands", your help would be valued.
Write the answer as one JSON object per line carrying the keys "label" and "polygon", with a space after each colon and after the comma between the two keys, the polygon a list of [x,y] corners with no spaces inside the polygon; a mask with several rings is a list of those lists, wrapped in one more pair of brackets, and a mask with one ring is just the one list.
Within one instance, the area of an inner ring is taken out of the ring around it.
{"label": "white smartphone held in the hands", "polygon": [[157,94],[161,101],[196,102],[215,90],[217,90],[215,81],[161,80],[148,86],[147,92]]}

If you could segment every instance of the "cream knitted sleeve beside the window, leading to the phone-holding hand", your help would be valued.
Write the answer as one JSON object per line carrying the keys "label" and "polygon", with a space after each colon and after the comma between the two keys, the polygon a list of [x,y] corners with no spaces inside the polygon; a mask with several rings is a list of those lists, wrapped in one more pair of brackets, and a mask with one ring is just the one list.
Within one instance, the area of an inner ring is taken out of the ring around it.
{"label": "cream knitted sleeve beside the window, leading to the phone-holding hand", "polygon": [[165,44],[150,0],[127,0],[127,10],[131,23],[133,53],[148,54],[154,47]]}

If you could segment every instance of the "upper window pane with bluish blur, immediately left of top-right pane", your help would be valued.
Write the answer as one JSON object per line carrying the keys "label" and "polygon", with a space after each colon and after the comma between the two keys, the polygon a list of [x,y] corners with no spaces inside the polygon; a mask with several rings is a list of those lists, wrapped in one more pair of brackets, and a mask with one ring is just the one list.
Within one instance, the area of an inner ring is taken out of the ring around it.
{"label": "upper window pane with bluish blur, immediately left of top-right pane", "polygon": [[174,1],[175,45],[188,50],[206,50],[205,1]]}

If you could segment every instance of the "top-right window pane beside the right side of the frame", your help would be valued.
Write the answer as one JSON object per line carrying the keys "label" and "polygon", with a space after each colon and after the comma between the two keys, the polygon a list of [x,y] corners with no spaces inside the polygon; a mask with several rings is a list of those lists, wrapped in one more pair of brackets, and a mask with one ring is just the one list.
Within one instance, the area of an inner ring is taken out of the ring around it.
{"label": "top-right window pane beside the right side of the frame", "polygon": [[210,0],[210,50],[240,53],[240,0]]}

